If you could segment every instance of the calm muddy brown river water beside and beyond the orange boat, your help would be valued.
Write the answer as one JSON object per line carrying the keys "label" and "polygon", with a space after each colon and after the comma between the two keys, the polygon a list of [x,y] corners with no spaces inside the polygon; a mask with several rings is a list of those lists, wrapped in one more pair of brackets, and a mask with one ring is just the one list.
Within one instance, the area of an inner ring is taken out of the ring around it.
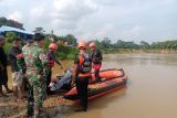
{"label": "calm muddy brown river water beside and beyond the orange boat", "polygon": [[107,54],[103,68],[124,68],[127,88],[66,118],[177,118],[177,54]]}

